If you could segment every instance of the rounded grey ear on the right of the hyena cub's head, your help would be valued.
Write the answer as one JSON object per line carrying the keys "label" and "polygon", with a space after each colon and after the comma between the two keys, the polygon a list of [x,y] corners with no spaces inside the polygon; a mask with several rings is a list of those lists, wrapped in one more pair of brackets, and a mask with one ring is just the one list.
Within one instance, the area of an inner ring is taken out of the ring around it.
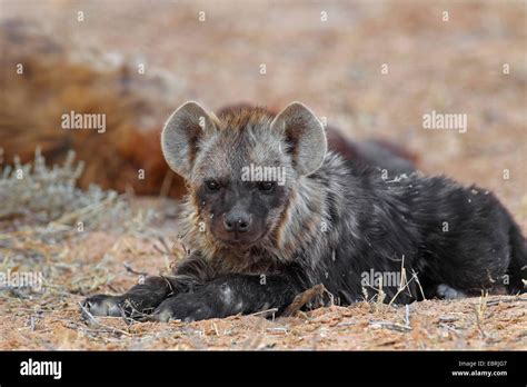
{"label": "rounded grey ear on the right of the hyena cub's head", "polygon": [[288,105],[272,121],[271,130],[285,137],[299,175],[320,168],[328,143],[322,123],[308,107],[300,102]]}

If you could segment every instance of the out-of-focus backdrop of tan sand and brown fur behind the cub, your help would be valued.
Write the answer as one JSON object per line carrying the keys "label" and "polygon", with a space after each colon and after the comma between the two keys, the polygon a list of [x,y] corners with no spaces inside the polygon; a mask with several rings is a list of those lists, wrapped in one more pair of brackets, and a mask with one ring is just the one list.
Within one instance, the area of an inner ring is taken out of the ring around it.
{"label": "out-of-focus backdrop of tan sand and brown fur behind the cub", "polygon": [[[74,149],[81,186],[180,196],[159,149],[175,108],[300,100],[349,140],[494,190],[527,230],[525,2],[2,0],[0,14],[3,163]],[[105,113],[106,132],[63,130],[71,110]],[[431,110],[466,113],[467,132],[424,129]]]}

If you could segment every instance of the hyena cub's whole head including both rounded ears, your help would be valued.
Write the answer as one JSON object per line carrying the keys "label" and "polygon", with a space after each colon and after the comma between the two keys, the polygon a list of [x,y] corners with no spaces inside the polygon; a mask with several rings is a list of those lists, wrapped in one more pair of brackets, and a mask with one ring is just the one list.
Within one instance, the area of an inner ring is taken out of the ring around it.
{"label": "hyena cub's whole head including both rounded ears", "polygon": [[216,117],[189,101],[168,119],[161,146],[187,181],[195,227],[216,250],[272,242],[299,180],[327,151],[322,125],[299,102],[276,117],[247,107]]}

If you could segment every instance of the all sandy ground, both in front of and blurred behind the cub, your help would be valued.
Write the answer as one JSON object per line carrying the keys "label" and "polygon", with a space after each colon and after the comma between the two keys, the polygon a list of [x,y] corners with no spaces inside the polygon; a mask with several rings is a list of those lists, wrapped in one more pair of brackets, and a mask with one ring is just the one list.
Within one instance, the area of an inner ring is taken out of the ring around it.
{"label": "all sandy ground, both in front of and blurred behind the cub", "polygon": [[[350,138],[396,140],[420,157],[425,172],[494,190],[527,231],[525,2],[126,3],[9,0],[2,13],[44,22],[76,49],[169,73],[172,108],[187,99],[211,109],[301,100]],[[76,21],[79,9],[83,23]],[[163,109],[160,121],[170,110]],[[431,110],[467,113],[467,132],[422,129],[421,117]],[[82,321],[83,297],[120,292],[138,280],[123,262],[149,274],[169,264],[159,237],[171,245],[173,219],[149,228],[34,241],[38,254],[22,258],[1,250],[3,270],[41,270],[46,287],[0,291],[0,349],[527,348],[526,296],[427,300],[408,310],[361,302],[275,320]]]}

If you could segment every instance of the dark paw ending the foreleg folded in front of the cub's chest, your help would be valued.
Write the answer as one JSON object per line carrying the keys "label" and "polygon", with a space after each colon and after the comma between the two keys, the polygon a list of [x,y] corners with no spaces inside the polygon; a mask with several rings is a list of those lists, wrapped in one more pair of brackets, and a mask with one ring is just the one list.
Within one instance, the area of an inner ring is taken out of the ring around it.
{"label": "dark paw ending the foreleg folded in front of the cub's chest", "polygon": [[220,316],[206,298],[182,294],[162,301],[152,317],[162,322],[169,320],[190,322]]}

